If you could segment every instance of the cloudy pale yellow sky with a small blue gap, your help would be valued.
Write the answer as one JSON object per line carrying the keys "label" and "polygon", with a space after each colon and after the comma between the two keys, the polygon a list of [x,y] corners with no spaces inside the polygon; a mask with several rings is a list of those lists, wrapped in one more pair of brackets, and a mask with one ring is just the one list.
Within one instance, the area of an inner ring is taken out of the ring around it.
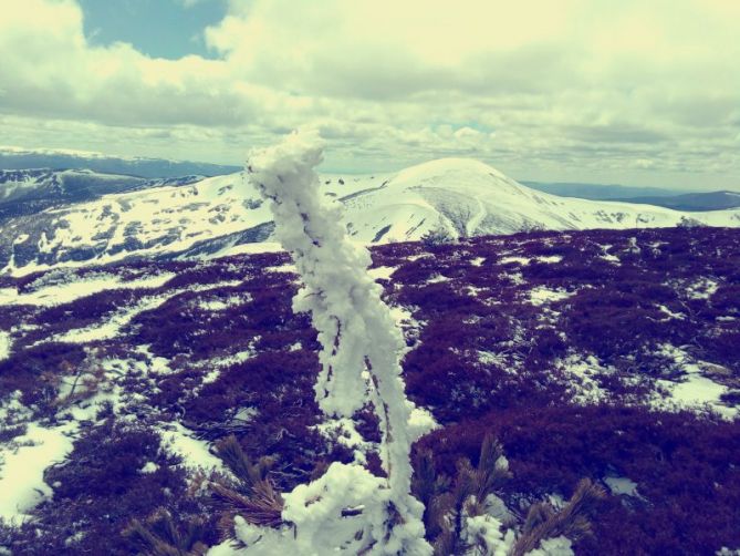
{"label": "cloudy pale yellow sky with a small blue gap", "polygon": [[740,188],[738,0],[0,0],[0,144]]}

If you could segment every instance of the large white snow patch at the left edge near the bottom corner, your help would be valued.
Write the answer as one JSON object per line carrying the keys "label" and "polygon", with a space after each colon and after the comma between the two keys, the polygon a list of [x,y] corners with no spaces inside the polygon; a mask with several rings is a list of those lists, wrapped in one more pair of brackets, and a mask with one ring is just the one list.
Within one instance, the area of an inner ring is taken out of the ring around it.
{"label": "large white snow patch at the left edge near the bottom corner", "polygon": [[43,472],[72,451],[76,423],[44,428],[29,423],[27,433],[14,439],[15,447],[0,447],[0,517],[19,523],[24,514],[52,494]]}

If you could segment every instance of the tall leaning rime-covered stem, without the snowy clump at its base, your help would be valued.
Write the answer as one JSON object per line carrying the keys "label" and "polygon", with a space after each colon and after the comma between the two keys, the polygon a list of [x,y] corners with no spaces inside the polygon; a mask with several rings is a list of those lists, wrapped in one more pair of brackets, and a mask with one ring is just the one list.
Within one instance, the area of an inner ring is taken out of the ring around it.
{"label": "tall leaning rime-covered stem, without the snowy clump at its base", "polygon": [[[322,152],[317,134],[293,133],[275,146],[251,153],[249,178],[271,200],[275,237],[301,276],[303,287],[293,309],[309,311],[319,331],[319,406],[329,418],[352,418],[369,400],[379,419],[381,456],[388,478],[383,484],[362,470],[385,491],[376,496],[385,515],[367,511],[367,518],[384,521],[371,524],[376,536],[372,550],[430,554],[424,540],[424,508],[410,495],[409,451],[416,439],[408,426],[414,406],[402,379],[403,337],[381,298],[381,287],[367,274],[368,250],[347,238],[340,205],[321,197],[314,167]],[[327,475],[346,471],[335,464]],[[381,525],[384,538],[377,534]]]}

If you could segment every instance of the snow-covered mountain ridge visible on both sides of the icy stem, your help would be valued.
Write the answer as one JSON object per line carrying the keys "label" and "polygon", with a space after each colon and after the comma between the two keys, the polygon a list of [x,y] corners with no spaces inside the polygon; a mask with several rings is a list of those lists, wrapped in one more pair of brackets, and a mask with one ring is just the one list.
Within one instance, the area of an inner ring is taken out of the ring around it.
{"label": "snow-covered mountain ridge visible on both sides of the icy stem", "polygon": [[[483,163],[446,158],[395,174],[322,177],[345,207],[358,241],[413,240],[445,228],[452,236],[531,229],[740,226],[740,210],[682,213],[536,192]],[[105,195],[0,223],[0,268],[25,274],[61,262],[131,256],[212,256],[270,240],[270,214],[241,173],[190,185]],[[238,247],[242,246],[242,247]]]}

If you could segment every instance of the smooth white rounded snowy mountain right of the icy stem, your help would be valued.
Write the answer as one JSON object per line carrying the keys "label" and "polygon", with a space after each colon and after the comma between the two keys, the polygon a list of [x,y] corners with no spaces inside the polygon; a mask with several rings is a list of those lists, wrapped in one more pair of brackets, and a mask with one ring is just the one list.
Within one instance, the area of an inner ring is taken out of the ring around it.
{"label": "smooth white rounded snowy mountain right of the icy stem", "polygon": [[740,213],[733,212],[689,215],[649,205],[557,197],[525,187],[486,164],[457,158],[407,168],[384,189],[345,204],[348,222],[355,229],[364,225],[367,230],[358,234],[366,241],[381,222],[392,224],[385,238],[398,240],[414,239],[435,226],[456,236],[476,236],[533,228],[668,227],[687,222],[740,225]]}

